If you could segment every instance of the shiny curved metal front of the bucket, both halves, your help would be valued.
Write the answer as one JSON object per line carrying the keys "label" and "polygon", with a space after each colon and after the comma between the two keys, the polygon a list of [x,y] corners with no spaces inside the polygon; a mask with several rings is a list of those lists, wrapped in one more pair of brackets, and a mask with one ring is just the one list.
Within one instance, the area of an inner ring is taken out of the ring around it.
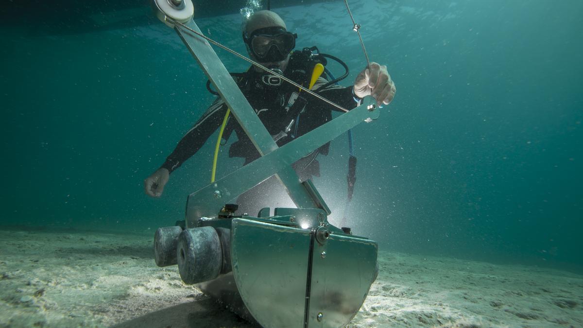
{"label": "shiny curved metal front of the bucket, both halves", "polygon": [[261,326],[343,327],[366,299],[377,276],[377,243],[335,234],[315,241],[307,303],[310,239],[309,229],[233,219],[233,277]]}

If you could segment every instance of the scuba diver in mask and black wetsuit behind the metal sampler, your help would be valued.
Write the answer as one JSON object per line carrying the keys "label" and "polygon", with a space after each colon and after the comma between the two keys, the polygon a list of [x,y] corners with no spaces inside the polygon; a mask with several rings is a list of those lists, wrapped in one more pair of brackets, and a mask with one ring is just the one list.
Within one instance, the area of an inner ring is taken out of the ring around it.
{"label": "scuba diver in mask and black wetsuit behind the metal sampler", "polygon": [[[315,65],[318,62],[325,65],[325,59],[321,55],[312,54],[312,50],[317,49],[315,47],[292,52],[296,46],[296,38],[297,34],[288,32],[282,18],[272,11],[256,12],[243,26],[243,41],[252,60],[307,86]],[[241,92],[278,146],[326,123],[332,119],[332,110],[338,110],[254,65],[243,74],[233,75]],[[368,95],[377,100],[378,106],[389,104],[396,92],[387,67],[375,62],[371,62],[370,67],[360,72],[353,86],[340,86],[335,83],[338,81],[339,79],[328,81],[321,76],[315,81],[312,90],[346,109],[353,109],[361,98]],[[170,173],[202,147],[210,135],[222,125],[226,113],[227,104],[221,97],[217,97],[182,137],[161,167],[144,180],[147,195],[161,196]],[[259,158],[259,152],[237,120],[227,122],[223,139],[229,139],[233,131],[237,134],[238,141],[231,144],[229,157],[244,158],[245,165]],[[316,158],[320,153],[328,155],[328,149],[329,143],[293,164],[301,181],[319,176],[319,163]],[[255,215],[264,207],[289,207],[288,200],[291,201],[275,176],[272,176],[237,198],[238,212]]]}

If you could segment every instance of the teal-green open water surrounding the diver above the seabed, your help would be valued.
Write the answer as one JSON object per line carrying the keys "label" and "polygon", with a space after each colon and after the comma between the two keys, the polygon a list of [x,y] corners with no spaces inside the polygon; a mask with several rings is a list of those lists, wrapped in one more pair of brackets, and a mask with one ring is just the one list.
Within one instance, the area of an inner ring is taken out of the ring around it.
{"label": "teal-green open water surrounding the diver above the seabed", "polygon": [[[163,197],[143,193],[213,97],[149,6],[99,4],[0,9],[3,226],[153,233],[181,219],[187,194],[210,179],[214,136]],[[371,60],[397,86],[381,117],[353,130],[353,231],[382,249],[581,270],[583,2],[350,4]],[[352,84],[366,61],[342,1],[275,11],[298,33],[296,48],[345,60]],[[196,23],[244,52],[237,13]],[[231,71],[247,68],[217,53]],[[319,160],[315,185],[334,222],[346,136]],[[222,152],[218,175],[241,164]]]}

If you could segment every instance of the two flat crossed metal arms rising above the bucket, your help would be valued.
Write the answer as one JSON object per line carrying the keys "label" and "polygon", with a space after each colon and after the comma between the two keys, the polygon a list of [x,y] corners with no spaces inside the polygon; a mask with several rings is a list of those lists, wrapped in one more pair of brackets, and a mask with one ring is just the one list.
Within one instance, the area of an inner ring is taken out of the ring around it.
{"label": "two flat crossed metal arms rising above the bucket", "polygon": [[[194,20],[191,20],[187,25],[200,32]],[[216,217],[218,210],[227,201],[272,175],[278,177],[298,208],[327,208],[311,184],[308,183],[308,187],[306,187],[300,182],[296,172],[291,168],[291,164],[338,137],[354,125],[362,121],[376,119],[379,116],[379,111],[373,97],[367,96],[356,109],[342,114],[282,147],[278,147],[208,41],[188,33],[178,26],[175,26],[174,29],[261,154],[261,158],[254,162],[190,194],[186,211],[187,226],[195,226],[201,217]]]}

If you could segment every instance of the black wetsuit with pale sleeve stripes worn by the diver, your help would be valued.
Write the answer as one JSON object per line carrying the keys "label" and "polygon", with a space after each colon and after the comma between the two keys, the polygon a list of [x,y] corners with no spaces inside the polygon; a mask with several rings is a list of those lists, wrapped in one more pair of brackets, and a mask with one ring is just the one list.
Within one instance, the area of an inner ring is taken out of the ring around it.
{"label": "black wetsuit with pale sleeve stripes worn by the diver", "polygon": [[[293,57],[291,60],[293,60]],[[288,67],[293,67],[293,65],[288,65]],[[289,70],[290,69],[286,69],[285,75],[293,76]],[[296,82],[299,82],[300,84],[305,83],[305,81]],[[326,82],[328,81],[324,78],[319,78],[312,90],[317,91],[319,95],[332,100],[346,109],[353,109],[356,106],[352,86],[343,87],[332,85],[327,86],[325,89],[318,90],[319,86],[324,85]],[[259,73],[255,72],[252,68],[244,74],[243,78],[239,78],[237,83],[243,92],[243,95],[247,98],[251,107],[255,110],[255,113],[257,113],[259,119],[265,125],[269,134],[274,136],[274,139],[276,135],[281,135],[282,131],[285,130],[286,125],[289,124],[289,121],[284,118],[286,116],[286,105],[289,103],[292,93],[297,93],[297,88],[285,81],[280,86],[266,86],[260,81]],[[304,110],[301,112],[299,119],[296,120],[293,126],[291,126],[291,130],[286,136],[276,141],[278,146],[282,146],[287,142],[292,141],[294,138],[300,137],[314,128],[317,128],[319,125],[326,123],[326,121],[332,119],[332,110],[339,110],[305,92],[300,92],[299,95],[305,99],[306,104]],[[220,127],[226,114],[226,110],[226,103],[224,103],[220,97],[217,98],[215,102],[211,104],[209,109],[206,110],[205,114],[203,114],[203,116],[196,122],[194,127],[182,137],[174,151],[166,158],[166,162],[164,162],[161,167],[173,172],[182,165],[185,160],[194,155],[210,135]],[[239,125],[237,120],[231,115],[223,134],[223,138],[228,139],[233,131],[236,132],[238,141],[230,146],[229,156],[245,158],[245,164],[259,158],[259,152],[252,145],[251,140],[247,137],[247,134],[245,134],[241,125]],[[315,158],[318,153],[328,155],[328,148],[329,143],[321,146],[317,151],[312,152],[310,155],[305,156],[305,158],[294,163],[293,167],[302,181],[310,179],[312,176],[319,176],[319,163]],[[274,183],[276,186],[274,186]],[[242,194],[237,200],[237,203],[240,205],[240,211],[238,212],[248,212],[251,215],[255,215],[257,214],[256,211],[262,207],[270,205],[271,207],[274,207],[273,202],[270,203],[266,196],[267,194],[280,193],[282,189],[278,189],[279,186],[277,185],[279,184],[276,183],[276,180],[273,179],[273,177],[271,177],[264,183],[254,187],[254,189]],[[276,191],[276,189],[278,191]],[[259,198],[262,198],[265,201],[259,201]],[[277,205],[278,204],[275,204],[275,207]]]}

